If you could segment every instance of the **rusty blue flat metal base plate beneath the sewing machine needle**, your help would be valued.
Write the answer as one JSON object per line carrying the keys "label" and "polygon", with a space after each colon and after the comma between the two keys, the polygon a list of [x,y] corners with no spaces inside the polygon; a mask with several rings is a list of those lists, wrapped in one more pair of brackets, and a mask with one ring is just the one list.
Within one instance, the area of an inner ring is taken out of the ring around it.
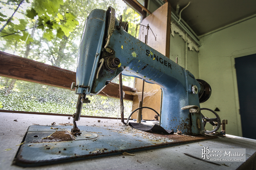
{"label": "rusty blue flat metal base plate beneath the sewing machine needle", "polygon": [[58,130],[49,126],[29,126],[14,163],[34,167],[211,139],[203,136],[159,135],[128,126],[79,126],[83,135],[74,138],[69,133],[70,127],[54,128]]}

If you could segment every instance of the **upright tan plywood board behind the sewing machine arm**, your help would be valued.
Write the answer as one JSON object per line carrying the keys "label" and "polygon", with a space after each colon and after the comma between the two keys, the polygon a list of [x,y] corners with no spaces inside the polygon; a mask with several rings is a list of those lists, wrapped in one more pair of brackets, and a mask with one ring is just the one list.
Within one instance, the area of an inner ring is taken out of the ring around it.
{"label": "upright tan plywood board behind the sewing machine arm", "polygon": [[[165,3],[152,14],[147,16],[144,20],[142,20],[141,24],[145,26],[149,25],[151,29],[147,30],[146,27],[141,27],[139,36],[139,39],[142,42],[145,42],[145,35],[148,35],[147,44],[168,58],[170,53],[170,21],[171,7],[169,3]],[[135,88],[140,91],[142,90],[141,79],[135,79]],[[141,100],[141,96],[134,96],[133,110],[138,108],[139,99]],[[160,86],[150,83],[144,84],[143,106],[150,107],[160,114]],[[155,115],[156,113],[149,109],[143,109],[142,111],[142,118],[146,120],[154,119]],[[136,119],[137,114],[135,113],[132,118]]]}

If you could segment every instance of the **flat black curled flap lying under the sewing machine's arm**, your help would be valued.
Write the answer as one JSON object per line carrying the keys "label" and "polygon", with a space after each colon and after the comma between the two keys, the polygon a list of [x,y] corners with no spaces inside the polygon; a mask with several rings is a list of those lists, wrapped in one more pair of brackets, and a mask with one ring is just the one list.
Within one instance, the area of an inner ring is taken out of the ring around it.
{"label": "flat black curled flap lying under the sewing machine's arm", "polygon": [[161,127],[160,125],[157,125],[157,124],[155,124],[152,127],[152,126],[144,125],[144,124],[141,124],[141,123],[129,122],[129,126],[135,128],[137,130],[141,130],[141,131],[145,131],[145,132],[155,132],[155,133],[163,133],[163,134],[174,134],[173,131],[164,129],[163,127]]}

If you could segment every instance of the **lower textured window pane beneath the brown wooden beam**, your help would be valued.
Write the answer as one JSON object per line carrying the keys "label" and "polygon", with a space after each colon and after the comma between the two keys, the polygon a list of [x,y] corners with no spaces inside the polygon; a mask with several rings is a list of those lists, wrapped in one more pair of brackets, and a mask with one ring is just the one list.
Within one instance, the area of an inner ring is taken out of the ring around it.
{"label": "lower textured window pane beneath the brown wooden beam", "polygon": [[[82,115],[121,117],[118,98],[88,97],[91,102],[83,104]],[[0,110],[73,114],[77,99],[72,90],[0,76]],[[131,112],[132,101],[124,100],[124,117]]]}

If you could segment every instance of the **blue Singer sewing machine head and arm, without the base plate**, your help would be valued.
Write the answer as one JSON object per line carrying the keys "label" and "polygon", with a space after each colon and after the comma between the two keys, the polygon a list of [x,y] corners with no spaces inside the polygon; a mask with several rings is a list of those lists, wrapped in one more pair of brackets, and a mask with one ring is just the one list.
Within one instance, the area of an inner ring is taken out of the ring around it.
{"label": "blue Singer sewing machine head and arm, without the base plate", "polygon": [[79,94],[72,133],[79,133],[75,121],[80,118],[82,103],[90,102],[86,95],[97,95],[123,71],[161,87],[163,128],[190,135],[204,132],[199,104],[210,97],[209,84],[196,80],[189,71],[129,35],[109,7],[107,12],[93,10],[83,28],[76,84],[72,84]]}

